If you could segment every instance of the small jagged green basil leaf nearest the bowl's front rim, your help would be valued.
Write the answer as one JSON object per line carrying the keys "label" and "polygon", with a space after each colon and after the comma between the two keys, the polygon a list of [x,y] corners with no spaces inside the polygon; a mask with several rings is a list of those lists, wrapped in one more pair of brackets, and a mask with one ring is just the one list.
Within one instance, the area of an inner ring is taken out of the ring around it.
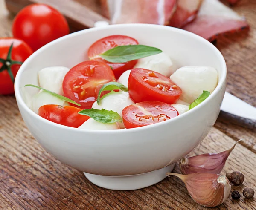
{"label": "small jagged green basil leaf nearest the bowl's front rim", "polygon": [[116,122],[122,122],[121,116],[112,110],[106,110],[106,109],[84,109],[80,112],[78,112],[80,115],[87,115],[93,120],[96,120],[101,123],[105,124],[111,124]]}

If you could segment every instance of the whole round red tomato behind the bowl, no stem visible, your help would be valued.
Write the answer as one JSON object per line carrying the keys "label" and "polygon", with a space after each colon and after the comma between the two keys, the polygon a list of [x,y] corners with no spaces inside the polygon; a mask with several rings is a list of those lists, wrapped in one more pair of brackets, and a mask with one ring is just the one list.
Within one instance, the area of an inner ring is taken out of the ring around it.
{"label": "whole round red tomato behind the bowl, no stem visible", "polygon": [[14,19],[12,33],[35,51],[47,43],[69,34],[65,17],[45,4],[31,4]]}

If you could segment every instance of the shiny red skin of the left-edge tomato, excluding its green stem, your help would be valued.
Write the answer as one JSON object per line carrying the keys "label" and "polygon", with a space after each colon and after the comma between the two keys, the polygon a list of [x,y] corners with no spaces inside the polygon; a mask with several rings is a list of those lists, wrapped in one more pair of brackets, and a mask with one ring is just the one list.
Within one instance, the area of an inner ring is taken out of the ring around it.
{"label": "shiny red skin of the left-edge tomato, excluding its green stem", "polygon": [[[10,46],[13,43],[11,58],[15,61],[24,62],[32,53],[32,49],[23,41],[15,38],[0,38],[0,58],[6,59]],[[3,63],[0,62],[0,68]],[[16,76],[20,65],[14,64],[11,66],[12,74]],[[0,72],[0,94],[9,95],[14,93],[13,82],[7,72]]]}

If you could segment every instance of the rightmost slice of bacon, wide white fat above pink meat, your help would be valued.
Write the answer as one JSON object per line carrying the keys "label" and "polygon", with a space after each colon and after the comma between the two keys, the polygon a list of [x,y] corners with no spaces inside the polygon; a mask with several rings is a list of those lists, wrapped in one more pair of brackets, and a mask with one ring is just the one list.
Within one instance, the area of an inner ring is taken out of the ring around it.
{"label": "rightmost slice of bacon, wide white fat above pink meat", "polygon": [[239,16],[218,0],[204,0],[197,18],[183,29],[213,41],[219,34],[248,28],[244,17]]}

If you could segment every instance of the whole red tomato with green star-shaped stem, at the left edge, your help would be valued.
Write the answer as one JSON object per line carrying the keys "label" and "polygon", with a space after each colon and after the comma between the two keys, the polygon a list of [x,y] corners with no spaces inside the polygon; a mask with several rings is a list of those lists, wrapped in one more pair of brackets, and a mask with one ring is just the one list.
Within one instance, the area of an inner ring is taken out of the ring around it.
{"label": "whole red tomato with green star-shaped stem, at the left edge", "polygon": [[0,94],[14,93],[14,78],[20,65],[33,53],[22,40],[0,38]]}

